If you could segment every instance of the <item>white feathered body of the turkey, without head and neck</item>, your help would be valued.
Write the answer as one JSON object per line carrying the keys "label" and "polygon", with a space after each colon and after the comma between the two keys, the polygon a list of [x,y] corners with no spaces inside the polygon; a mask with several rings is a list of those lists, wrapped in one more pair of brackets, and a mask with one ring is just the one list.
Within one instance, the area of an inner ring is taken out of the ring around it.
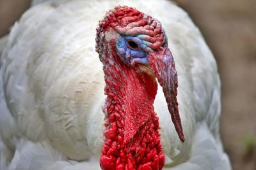
{"label": "white feathered body of the turkey, without head and neck", "polygon": [[186,141],[159,88],[154,107],[164,169],[231,169],[219,136],[216,62],[186,12],[164,0],[34,4],[13,26],[1,56],[0,169],[100,169],[106,96],[95,28],[118,4],[157,18],[175,59]]}

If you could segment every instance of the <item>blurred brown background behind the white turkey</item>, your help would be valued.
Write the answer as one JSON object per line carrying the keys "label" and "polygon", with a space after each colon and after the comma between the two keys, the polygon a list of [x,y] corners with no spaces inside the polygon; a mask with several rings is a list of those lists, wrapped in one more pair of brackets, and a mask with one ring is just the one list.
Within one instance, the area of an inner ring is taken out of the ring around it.
{"label": "blurred brown background behind the white turkey", "polygon": [[[234,170],[256,170],[256,1],[175,0],[186,10],[218,62],[221,138]],[[0,37],[29,8],[0,0]],[[224,169],[223,169],[224,170]]]}

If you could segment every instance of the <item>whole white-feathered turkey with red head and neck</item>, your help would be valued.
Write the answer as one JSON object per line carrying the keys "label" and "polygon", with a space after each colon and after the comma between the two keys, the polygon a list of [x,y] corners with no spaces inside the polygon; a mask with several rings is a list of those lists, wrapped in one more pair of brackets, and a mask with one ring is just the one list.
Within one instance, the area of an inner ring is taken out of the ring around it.
{"label": "whole white-feathered turkey with red head and neck", "polygon": [[170,1],[34,1],[0,78],[0,169],[231,169],[216,61]]}

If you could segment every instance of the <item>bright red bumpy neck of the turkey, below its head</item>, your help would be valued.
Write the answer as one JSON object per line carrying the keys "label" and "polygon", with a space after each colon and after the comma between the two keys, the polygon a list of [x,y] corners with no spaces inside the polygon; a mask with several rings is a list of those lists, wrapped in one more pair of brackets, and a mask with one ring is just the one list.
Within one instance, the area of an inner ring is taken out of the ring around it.
{"label": "bright red bumpy neck of the turkey, below its head", "polygon": [[[162,169],[164,155],[154,112],[157,83],[136,67],[123,64],[115,43],[104,53],[107,94],[104,146],[100,167],[112,169]],[[111,49],[111,50],[110,50]],[[114,49],[114,50],[113,50]]]}

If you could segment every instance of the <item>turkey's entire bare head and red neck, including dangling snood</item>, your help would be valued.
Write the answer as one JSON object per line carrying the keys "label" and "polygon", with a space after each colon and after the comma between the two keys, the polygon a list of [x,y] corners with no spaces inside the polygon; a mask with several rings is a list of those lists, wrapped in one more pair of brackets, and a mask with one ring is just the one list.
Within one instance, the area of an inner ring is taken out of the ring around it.
{"label": "turkey's entire bare head and red neck, including dangling snood", "polygon": [[145,13],[117,6],[99,22],[96,42],[104,64],[107,95],[102,107],[105,143],[100,167],[162,169],[164,154],[153,106],[157,81],[184,142],[177,103],[177,71],[163,27]]}

